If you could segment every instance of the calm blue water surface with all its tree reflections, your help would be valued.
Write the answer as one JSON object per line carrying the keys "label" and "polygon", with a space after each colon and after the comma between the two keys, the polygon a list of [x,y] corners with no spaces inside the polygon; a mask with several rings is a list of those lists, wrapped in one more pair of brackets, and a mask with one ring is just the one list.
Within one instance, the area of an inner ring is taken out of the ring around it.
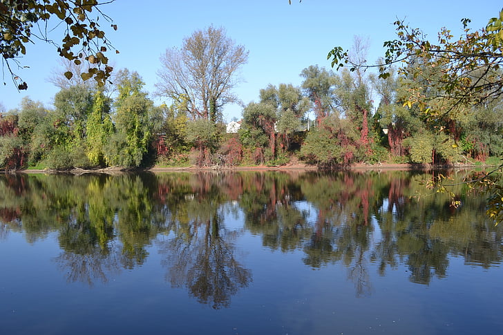
{"label": "calm blue water surface with all its tree reflections", "polygon": [[502,334],[503,224],[430,178],[0,175],[0,334]]}

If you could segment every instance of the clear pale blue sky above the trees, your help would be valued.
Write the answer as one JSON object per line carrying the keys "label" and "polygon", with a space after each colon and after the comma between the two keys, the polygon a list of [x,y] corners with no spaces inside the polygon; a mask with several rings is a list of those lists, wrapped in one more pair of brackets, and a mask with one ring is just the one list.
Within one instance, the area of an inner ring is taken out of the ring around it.
{"label": "clear pale blue sky above the trees", "polygon": [[[383,55],[383,41],[395,39],[392,23],[397,18],[421,28],[436,41],[444,26],[459,37],[464,17],[472,20],[473,29],[485,27],[502,6],[495,0],[292,0],[290,6],[288,0],[115,0],[102,6],[102,11],[113,18],[118,30],[108,29],[106,23],[102,27],[120,50],[119,55],[108,52],[115,69],[137,71],[149,93],[155,91],[159,58],[167,48],[181,46],[184,37],[211,24],[225,28],[227,37],[249,50],[248,63],[240,72],[243,82],[234,89],[248,104],[257,101],[260,88],[268,84],[300,86],[303,68],[316,64],[330,68],[328,51],[334,46],[350,48],[355,35],[370,40],[368,62],[374,63]],[[50,37],[61,39],[59,35]],[[28,83],[28,91],[19,93],[8,73],[3,79],[7,85],[0,87],[0,103],[7,110],[17,108],[26,95],[51,108],[58,91],[47,81],[59,66],[55,47],[38,43],[29,46],[27,53],[21,61],[30,68],[19,74]],[[230,121],[240,118],[241,111],[240,106],[229,105],[223,113]]]}

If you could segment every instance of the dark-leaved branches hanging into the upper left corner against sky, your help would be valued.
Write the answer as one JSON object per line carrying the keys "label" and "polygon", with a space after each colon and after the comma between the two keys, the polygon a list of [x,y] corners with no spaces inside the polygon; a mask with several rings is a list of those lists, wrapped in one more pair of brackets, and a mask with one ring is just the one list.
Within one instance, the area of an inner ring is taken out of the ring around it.
{"label": "dark-leaved branches hanging into the upper left corner against sky", "polygon": [[[73,61],[75,65],[81,64],[81,59],[88,61],[90,67],[87,72],[81,74],[82,79],[94,78],[98,86],[103,86],[113,70],[108,66],[108,57],[105,53],[113,46],[106,39],[98,21],[103,17],[106,22],[111,23],[111,28],[117,30],[117,25],[100,10],[100,6],[113,1],[115,0],[104,3],[99,3],[97,0],[1,1],[0,50],[3,78],[7,68],[12,82],[19,90],[28,88],[28,84],[16,73],[17,70],[28,67],[21,64],[19,57],[26,55],[28,43],[35,44],[35,40],[38,39],[53,44],[57,47],[59,56]],[[55,19],[57,25],[50,28],[49,23]],[[50,39],[49,33],[60,25],[64,27],[64,35],[59,45]],[[117,50],[115,52],[118,53]],[[73,77],[70,71],[64,75],[68,79]],[[6,85],[5,79],[3,81]]]}

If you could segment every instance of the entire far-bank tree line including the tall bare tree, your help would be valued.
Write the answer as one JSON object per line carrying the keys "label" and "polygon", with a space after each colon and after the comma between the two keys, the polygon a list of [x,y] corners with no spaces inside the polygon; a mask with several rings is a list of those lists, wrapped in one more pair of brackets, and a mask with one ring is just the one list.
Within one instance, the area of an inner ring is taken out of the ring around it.
{"label": "entire far-bank tree line including the tall bare tree", "polygon": [[[357,64],[365,52],[365,41],[355,38],[345,57]],[[292,160],[323,167],[473,164],[503,154],[502,97],[454,113],[455,102],[438,98],[445,89],[430,84],[442,82],[442,66],[432,66],[426,56],[399,70],[388,68],[380,78],[357,66],[337,73],[308,66],[300,73],[301,86],[261,89],[258,102],[243,106],[238,133],[226,133],[222,108],[240,103],[232,89],[247,56],[224,28],[197,30],[161,57],[153,94],[170,104],[160,106],[134,71],[119,70],[113,84],[97,85],[85,78],[92,64],[67,61],[50,79],[61,88],[53,108],[26,97],[16,110],[0,114],[0,167],[281,165]],[[498,68],[491,71],[500,75]],[[82,75],[68,78],[68,72]],[[447,112],[428,115],[424,106],[411,103],[414,96]]]}

